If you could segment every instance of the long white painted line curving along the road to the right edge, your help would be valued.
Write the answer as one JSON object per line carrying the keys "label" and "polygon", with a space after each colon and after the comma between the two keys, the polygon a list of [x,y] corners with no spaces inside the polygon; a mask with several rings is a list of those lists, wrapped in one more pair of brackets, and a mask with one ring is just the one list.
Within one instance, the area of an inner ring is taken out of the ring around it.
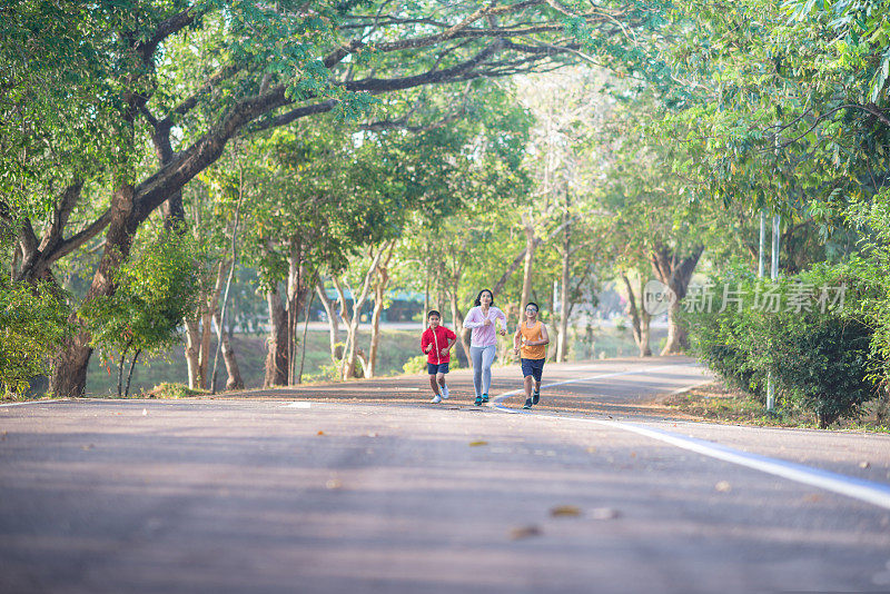
{"label": "long white painted line curving along the road to the right edge", "polygon": [[[565,382],[558,382],[556,384],[548,384],[546,386],[542,385],[541,389],[544,389],[545,387],[558,386],[562,384],[570,384],[573,382],[584,382],[586,379],[600,379],[605,377],[615,377],[619,375],[630,375],[630,374],[644,374],[647,372],[655,372],[659,369],[663,369],[664,367],[674,367],[674,366],[669,365],[661,367],[652,367],[650,369],[644,369],[642,372],[640,370],[621,372],[616,374],[604,374],[594,377],[568,379]],[[522,390],[516,389],[496,396],[493,402],[494,408],[497,408],[498,410],[505,413],[531,414],[531,413],[525,413],[524,410],[515,410],[513,408],[507,408],[501,404],[501,402],[507,396],[517,394],[520,392]],[[660,442],[671,444],[682,449],[695,452],[696,454],[701,454],[703,456],[721,459],[723,462],[729,462],[731,464],[736,464],[739,466],[745,466],[748,468],[753,468],[762,473],[771,474],[773,476],[779,476],[781,478],[787,478],[789,481],[794,481],[797,483],[801,483],[804,485],[814,486],[824,491],[830,491],[839,495],[846,495],[847,497],[852,497],[861,502],[870,503],[872,505],[890,509],[890,486],[883,485],[881,483],[874,483],[871,481],[864,481],[861,478],[844,476],[842,474],[837,474],[829,471],[822,471],[820,468],[813,468],[811,466],[804,466],[802,464],[795,464],[793,462],[785,462],[781,459],[769,458],[767,456],[759,456],[756,454],[741,452],[720,444],[712,444],[710,442],[704,442],[702,439],[696,439],[694,437],[686,437],[683,435],[678,435],[675,433],[665,432],[662,429],[655,429],[652,427],[646,427],[643,425],[637,425],[632,423],[623,423],[620,420],[605,420],[599,418],[564,417],[560,415],[535,415],[535,417],[554,418],[558,420],[572,420],[580,423],[592,423],[594,425],[602,425],[606,427],[613,427],[616,429],[623,429],[631,433],[636,433],[639,435],[644,435],[652,439],[657,439]]]}

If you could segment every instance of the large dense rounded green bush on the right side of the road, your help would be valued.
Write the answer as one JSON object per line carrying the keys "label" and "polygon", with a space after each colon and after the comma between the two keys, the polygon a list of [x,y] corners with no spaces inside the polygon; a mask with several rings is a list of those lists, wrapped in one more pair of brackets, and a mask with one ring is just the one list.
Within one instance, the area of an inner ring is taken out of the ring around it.
{"label": "large dense rounded green bush on the right side of the road", "polygon": [[692,348],[761,400],[772,374],[779,398],[813,413],[822,427],[853,417],[878,395],[869,377],[873,328],[860,307],[874,289],[860,271],[851,261],[778,283],[739,271],[713,278],[710,311],[705,291],[684,301]]}

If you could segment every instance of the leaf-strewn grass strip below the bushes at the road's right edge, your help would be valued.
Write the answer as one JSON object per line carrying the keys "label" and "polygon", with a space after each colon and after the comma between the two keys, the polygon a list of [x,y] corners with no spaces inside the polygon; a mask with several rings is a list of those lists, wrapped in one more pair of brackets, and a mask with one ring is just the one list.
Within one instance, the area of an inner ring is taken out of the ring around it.
{"label": "leaf-strewn grass strip below the bushes at the road's right edge", "polygon": [[[728,388],[722,382],[670,396],[661,403],[665,408],[712,423],[754,425],[761,427],[818,428],[815,415],[780,399],[768,412],[755,397]],[[890,433],[890,404],[884,395],[866,404],[857,419],[840,419],[830,429]]]}

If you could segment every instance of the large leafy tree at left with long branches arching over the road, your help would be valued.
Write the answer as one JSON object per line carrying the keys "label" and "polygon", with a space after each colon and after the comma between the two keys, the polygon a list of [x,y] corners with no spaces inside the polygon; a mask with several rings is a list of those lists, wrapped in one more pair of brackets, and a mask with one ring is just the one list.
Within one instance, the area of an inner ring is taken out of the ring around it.
{"label": "large leafy tree at left with long branches arching over the road", "polygon": [[[7,9],[9,19],[2,20],[10,24],[2,32],[14,34],[3,46],[3,58],[21,65],[26,73],[4,86],[18,93],[16,106],[27,107],[27,117],[32,117],[66,102],[75,106],[73,112],[89,111],[99,99],[102,110],[90,120],[96,125],[68,128],[77,132],[73,145],[95,147],[98,162],[110,164],[105,179],[88,169],[68,168],[63,177],[69,182],[44,185],[65,190],[39,196],[38,202],[51,205],[43,210],[55,215],[42,239],[33,221],[22,226],[17,276],[40,277],[103,232],[106,248],[86,300],[110,296],[115,271],[129,255],[136,231],[165,204],[169,218],[181,218],[182,188],[237,135],[327,111],[355,118],[368,110],[375,96],[396,90],[553,68],[582,48],[576,36],[623,34],[657,23],[657,9],[633,2],[573,13],[555,2],[531,0],[455,7],[444,18],[429,18],[434,8],[422,3],[386,11],[384,4],[333,1],[260,6],[171,0],[140,1],[129,10],[113,2],[65,13],[46,3]],[[63,34],[29,38],[53,20]],[[56,37],[66,40],[62,51]],[[17,53],[19,47],[28,47],[30,55]],[[606,43],[584,49],[626,53]],[[31,62],[65,82],[76,82],[77,92],[56,89],[52,77],[36,77]],[[33,102],[23,92],[34,87],[42,101]],[[21,121],[2,119],[13,127]],[[97,138],[96,128],[111,132]],[[53,138],[62,138],[68,129],[58,126],[51,131]],[[7,155],[34,146],[31,136],[11,138],[16,142]],[[147,146],[156,155],[155,167],[142,166]],[[78,164],[93,160],[77,146],[73,152]],[[24,177],[9,185],[27,184]],[[72,229],[70,215],[85,187],[81,181],[103,186],[110,200],[107,206],[91,204],[99,208]],[[20,196],[29,196],[30,189]],[[0,211],[14,207],[4,199]],[[89,336],[79,333],[59,358],[51,389],[81,394],[89,356]]]}

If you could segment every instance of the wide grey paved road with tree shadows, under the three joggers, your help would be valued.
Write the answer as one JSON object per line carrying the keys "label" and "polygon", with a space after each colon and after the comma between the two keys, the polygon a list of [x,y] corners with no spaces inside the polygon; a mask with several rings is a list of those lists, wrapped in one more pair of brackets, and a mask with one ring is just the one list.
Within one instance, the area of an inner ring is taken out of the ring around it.
{"label": "wide grey paved road with tree shadows, under the three joggers", "polygon": [[547,372],[531,413],[512,369],[502,408],[457,374],[447,406],[409,378],[2,407],[0,592],[890,591],[888,436],[669,418],[685,359]]}

